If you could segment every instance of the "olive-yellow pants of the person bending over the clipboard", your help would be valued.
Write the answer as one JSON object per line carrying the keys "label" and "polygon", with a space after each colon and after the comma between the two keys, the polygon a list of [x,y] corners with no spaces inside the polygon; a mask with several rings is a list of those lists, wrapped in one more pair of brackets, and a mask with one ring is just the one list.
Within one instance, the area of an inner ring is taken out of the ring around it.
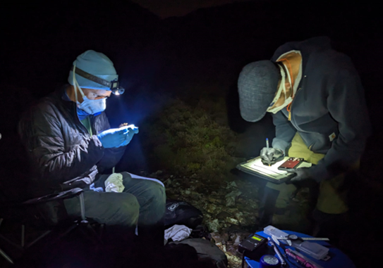
{"label": "olive-yellow pants of the person bending over the clipboard", "polygon": [[[304,158],[306,161],[315,165],[324,158],[324,154],[310,151],[298,132],[291,141],[291,147],[288,149],[288,156],[293,158]],[[317,210],[328,214],[341,214],[348,211],[346,205],[346,191],[338,191],[343,183],[344,174],[340,174],[339,176],[326,181],[321,181],[316,205]],[[279,191],[275,204],[277,209],[286,208],[291,195],[296,191],[296,186],[293,184],[273,184],[272,182],[268,182],[266,188]],[[267,189],[265,190],[267,191]]]}

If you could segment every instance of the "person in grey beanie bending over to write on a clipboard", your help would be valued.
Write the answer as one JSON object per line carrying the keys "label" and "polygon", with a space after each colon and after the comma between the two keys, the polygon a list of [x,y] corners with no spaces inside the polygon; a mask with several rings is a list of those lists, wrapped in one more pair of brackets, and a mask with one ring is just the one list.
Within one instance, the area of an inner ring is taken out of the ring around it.
{"label": "person in grey beanie bending over to write on a clipboard", "polygon": [[[290,184],[267,183],[260,205],[261,227],[284,213],[297,186],[319,186],[313,212],[317,231],[348,211],[345,172],[358,169],[370,122],[365,96],[351,59],[334,51],[327,37],[288,42],[271,60],[245,65],[238,79],[241,116],[257,122],[272,113],[276,136],[262,148],[265,164],[282,156],[305,158]],[[317,232],[316,232],[317,234]]]}

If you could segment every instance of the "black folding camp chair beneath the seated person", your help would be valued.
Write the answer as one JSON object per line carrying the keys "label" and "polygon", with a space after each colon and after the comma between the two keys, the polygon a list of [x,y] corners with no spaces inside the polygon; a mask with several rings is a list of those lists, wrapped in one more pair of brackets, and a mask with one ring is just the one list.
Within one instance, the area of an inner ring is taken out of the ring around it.
{"label": "black folding camp chair beneath the seated person", "polygon": [[[69,219],[63,215],[63,204],[62,200],[66,198],[79,197],[81,216],[78,219]],[[60,210],[61,208],[61,210]],[[49,217],[45,217],[46,213],[49,213]],[[87,238],[92,241],[96,241],[102,244],[101,236],[104,224],[95,225],[88,222],[85,218],[85,205],[83,189],[75,188],[61,193],[54,193],[40,198],[33,198],[23,203],[7,203],[0,205],[0,228],[3,222],[12,222],[12,224],[19,224],[20,229],[20,243],[7,238],[1,234],[0,239],[6,241],[13,248],[16,248],[22,255],[25,250],[28,250],[32,245],[35,245],[42,238],[48,236],[52,232],[57,234],[50,243],[59,240],[63,236],[66,236],[74,229],[79,229]],[[30,227],[32,230],[39,229],[42,232],[39,236],[28,239],[28,232],[26,227]],[[13,264],[13,259],[6,253],[5,250],[1,250],[0,255],[4,257],[8,262]]]}

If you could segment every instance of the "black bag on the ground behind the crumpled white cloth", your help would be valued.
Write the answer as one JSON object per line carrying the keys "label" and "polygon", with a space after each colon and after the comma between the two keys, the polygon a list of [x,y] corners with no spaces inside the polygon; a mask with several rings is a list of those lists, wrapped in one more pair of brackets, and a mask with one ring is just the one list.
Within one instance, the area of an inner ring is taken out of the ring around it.
{"label": "black bag on the ground behind the crumpled white cloth", "polygon": [[202,222],[202,212],[189,203],[181,200],[166,200],[165,229],[174,224],[185,225],[195,229]]}

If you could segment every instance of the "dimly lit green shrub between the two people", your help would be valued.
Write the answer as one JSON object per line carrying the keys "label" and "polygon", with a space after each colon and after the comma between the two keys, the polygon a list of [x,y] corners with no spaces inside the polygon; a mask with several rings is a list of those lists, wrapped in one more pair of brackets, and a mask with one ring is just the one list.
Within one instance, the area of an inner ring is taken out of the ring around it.
{"label": "dimly lit green shrub between the two people", "polygon": [[200,106],[193,108],[173,100],[144,129],[143,143],[157,169],[175,175],[222,179],[235,165],[230,144],[236,134],[217,124]]}

